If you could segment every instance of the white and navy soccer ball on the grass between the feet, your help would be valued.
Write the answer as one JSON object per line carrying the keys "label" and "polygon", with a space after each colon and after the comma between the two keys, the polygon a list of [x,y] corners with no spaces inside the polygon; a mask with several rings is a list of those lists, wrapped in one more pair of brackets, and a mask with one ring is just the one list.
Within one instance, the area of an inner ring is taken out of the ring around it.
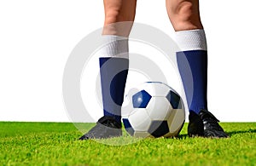
{"label": "white and navy soccer ball on the grass between the feet", "polygon": [[147,82],[131,89],[122,106],[125,130],[135,137],[173,137],[183,128],[183,100],[165,83]]}

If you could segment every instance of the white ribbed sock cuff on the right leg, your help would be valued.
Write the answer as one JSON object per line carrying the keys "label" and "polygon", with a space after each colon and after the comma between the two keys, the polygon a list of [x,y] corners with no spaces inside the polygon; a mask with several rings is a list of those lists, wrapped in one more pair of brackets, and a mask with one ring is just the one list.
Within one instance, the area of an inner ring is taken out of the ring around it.
{"label": "white ribbed sock cuff on the right leg", "polygon": [[207,50],[207,38],[203,29],[176,31],[175,39],[181,51]]}

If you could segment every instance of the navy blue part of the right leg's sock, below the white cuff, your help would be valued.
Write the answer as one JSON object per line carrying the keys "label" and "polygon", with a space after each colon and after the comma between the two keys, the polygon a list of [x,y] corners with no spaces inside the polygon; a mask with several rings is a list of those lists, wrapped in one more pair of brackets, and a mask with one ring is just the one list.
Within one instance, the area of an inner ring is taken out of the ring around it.
{"label": "navy blue part of the right leg's sock, below the white cuff", "polygon": [[177,52],[177,66],[189,106],[189,112],[207,109],[207,51]]}

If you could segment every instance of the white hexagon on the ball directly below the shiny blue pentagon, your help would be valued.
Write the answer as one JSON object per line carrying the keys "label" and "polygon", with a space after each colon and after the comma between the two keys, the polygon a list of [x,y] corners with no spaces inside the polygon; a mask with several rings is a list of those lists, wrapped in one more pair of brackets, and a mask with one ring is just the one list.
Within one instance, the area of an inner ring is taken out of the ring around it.
{"label": "white hexagon on the ball directly below the shiny blue pentagon", "polygon": [[145,108],[138,108],[128,117],[128,120],[135,131],[147,131],[151,123]]}

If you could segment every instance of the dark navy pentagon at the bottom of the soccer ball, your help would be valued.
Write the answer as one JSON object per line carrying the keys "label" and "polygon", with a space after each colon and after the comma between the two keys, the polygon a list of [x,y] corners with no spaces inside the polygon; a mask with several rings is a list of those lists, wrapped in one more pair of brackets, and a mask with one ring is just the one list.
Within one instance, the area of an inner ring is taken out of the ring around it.
{"label": "dark navy pentagon at the bottom of the soccer ball", "polygon": [[148,129],[148,133],[154,137],[164,136],[169,132],[167,121],[152,121]]}

